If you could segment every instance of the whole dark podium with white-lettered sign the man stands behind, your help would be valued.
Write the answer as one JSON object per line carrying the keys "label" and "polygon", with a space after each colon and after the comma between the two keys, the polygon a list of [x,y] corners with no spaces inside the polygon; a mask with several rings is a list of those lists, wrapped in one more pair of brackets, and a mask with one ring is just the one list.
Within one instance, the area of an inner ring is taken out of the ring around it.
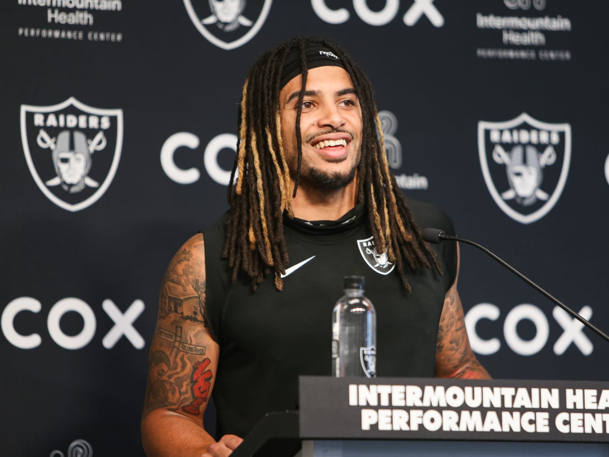
{"label": "whole dark podium with white-lettered sign the man stands behind", "polygon": [[609,383],[299,378],[234,457],[609,456]]}

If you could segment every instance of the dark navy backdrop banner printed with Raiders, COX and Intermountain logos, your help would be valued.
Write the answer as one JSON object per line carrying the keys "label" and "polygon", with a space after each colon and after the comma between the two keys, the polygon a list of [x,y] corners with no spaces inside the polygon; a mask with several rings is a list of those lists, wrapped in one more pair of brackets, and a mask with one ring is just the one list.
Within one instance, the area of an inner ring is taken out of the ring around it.
{"label": "dark navy backdrop banner printed with Raiders, COX and Intermountain logos", "polygon": [[[143,454],[161,277],[227,209],[245,74],[295,34],[367,71],[407,196],[609,330],[608,16],[568,0],[3,1],[1,453]],[[607,342],[461,255],[493,377],[609,378]]]}

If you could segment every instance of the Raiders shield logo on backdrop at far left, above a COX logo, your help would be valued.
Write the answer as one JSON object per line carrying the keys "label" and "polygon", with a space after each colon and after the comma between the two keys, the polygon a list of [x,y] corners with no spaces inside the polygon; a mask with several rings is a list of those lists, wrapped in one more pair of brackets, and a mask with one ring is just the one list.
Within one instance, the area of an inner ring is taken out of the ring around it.
{"label": "Raiders shield logo on backdrop at far left, above a COX logo", "polygon": [[53,106],[21,105],[21,142],[38,188],[68,211],[104,195],[122,149],[122,110],[93,108],[74,97]]}

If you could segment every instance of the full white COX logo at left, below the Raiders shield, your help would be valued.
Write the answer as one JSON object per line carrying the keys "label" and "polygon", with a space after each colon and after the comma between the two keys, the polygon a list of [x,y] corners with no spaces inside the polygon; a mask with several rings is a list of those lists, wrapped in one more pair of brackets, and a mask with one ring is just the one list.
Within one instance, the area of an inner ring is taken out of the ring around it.
{"label": "full white COX logo at left, below the Raiders shield", "polygon": [[[112,300],[104,300],[102,308],[114,322],[114,327],[108,331],[102,340],[102,344],[106,349],[113,348],[123,335],[136,349],[144,347],[144,338],[133,328],[133,322],[144,311],[144,302],[142,300],[135,300],[125,313],[122,313]],[[41,309],[41,303],[32,297],[19,297],[4,308],[1,318],[2,333],[4,333],[4,337],[9,340],[10,344],[20,349],[33,349],[40,346],[42,338],[38,333],[21,335],[21,333],[15,330],[14,322],[15,316],[23,311],[40,313]],[[83,320],[82,330],[80,330],[78,335],[74,336],[66,335],[59,325],[63,315],[71,311],[80,314]],[[53,341],[64,349],[81,349],[85,347],[93,339],[97,327],[97,321],[91,306],[87,305],[83,300],[74,297],[68,297],[55,303],[51,307],[51,310],[49,310],[46,324]]]}

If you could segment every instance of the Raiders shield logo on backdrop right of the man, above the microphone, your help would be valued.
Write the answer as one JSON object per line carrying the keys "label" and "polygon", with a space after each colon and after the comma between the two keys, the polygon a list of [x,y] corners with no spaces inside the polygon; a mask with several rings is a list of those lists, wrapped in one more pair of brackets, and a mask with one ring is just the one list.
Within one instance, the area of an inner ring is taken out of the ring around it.
{"label": "Raiders shield logo on backdrop right of the man, above the microphone", "polygon": [[526,113],[506,122],[478,122],[482,175],[495,203],[522,224],[543,218],[565,188],[571,126]]}

